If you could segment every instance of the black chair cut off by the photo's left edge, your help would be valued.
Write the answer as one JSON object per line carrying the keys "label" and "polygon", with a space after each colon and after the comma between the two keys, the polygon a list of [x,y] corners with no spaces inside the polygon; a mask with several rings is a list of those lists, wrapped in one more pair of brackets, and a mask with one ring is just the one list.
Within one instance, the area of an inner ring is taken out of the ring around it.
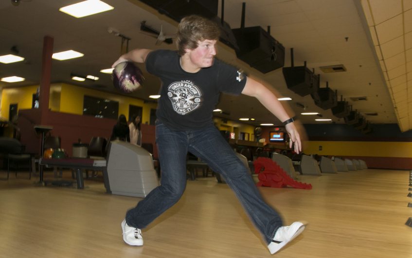
{"label": "black chair cut off by the photo's left edge", "polygon": [[3,154],[3,161],[7,160],[7,178],[9,179],[10,170],[28,171],[29,179],[32,178],[31,164],[32,157],[30,154],[24,153],[25,146],[17,139],[0,137],[0,151]]}

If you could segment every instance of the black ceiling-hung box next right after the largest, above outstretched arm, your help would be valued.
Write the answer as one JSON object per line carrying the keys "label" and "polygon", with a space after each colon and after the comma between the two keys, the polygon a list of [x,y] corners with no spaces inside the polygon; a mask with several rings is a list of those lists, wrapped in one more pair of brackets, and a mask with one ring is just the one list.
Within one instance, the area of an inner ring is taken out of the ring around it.
{"label": "black ceiling-hung box next right after the largest, above outstretched arm", "polygon": [[287,88],[302,97],[317,92],[321,76],[310,71],[306,67],[306,61],[304,66],[294,66],[293,48],[290,48],[290,58],[291,66],[282,68]]}

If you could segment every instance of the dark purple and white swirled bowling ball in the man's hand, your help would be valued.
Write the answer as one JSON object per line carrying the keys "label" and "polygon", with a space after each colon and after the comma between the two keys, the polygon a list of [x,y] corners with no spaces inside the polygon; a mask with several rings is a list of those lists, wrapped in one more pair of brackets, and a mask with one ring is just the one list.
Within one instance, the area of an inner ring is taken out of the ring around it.
{"label": "dark purple and white swirled bowling ball in the man's hand", "polygon": [[143,84],[143,73],[133,62],[116,64],[112,72],[113,86],[125,93],[133,92]]}

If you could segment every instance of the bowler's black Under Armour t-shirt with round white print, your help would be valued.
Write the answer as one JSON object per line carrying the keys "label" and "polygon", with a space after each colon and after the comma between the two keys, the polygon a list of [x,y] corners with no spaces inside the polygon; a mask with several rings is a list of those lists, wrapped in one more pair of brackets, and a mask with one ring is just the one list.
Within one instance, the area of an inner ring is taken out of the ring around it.
{"label": "bowler's black Under Armour t-shirt with round white print", "polygon": [[146,69],[161,79],[157,118],[170,129],[191,130],[213,125],[213,110],[220,92],[239,95],[246,77],[232,65],[215,59],[196,73],[184,71],[177,51],[155,50],[146,58]]}

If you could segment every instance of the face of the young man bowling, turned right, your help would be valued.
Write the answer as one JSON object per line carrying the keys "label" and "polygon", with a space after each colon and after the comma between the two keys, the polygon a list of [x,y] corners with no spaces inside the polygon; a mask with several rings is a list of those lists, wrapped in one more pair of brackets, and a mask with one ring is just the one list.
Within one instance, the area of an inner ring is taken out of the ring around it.
{"label": "face of the young man bowling, turned right", "polygon": [[199,41],[197,48],[188,49],[190,61],[198,68],[210,67],[216,55],[216,40]]}

